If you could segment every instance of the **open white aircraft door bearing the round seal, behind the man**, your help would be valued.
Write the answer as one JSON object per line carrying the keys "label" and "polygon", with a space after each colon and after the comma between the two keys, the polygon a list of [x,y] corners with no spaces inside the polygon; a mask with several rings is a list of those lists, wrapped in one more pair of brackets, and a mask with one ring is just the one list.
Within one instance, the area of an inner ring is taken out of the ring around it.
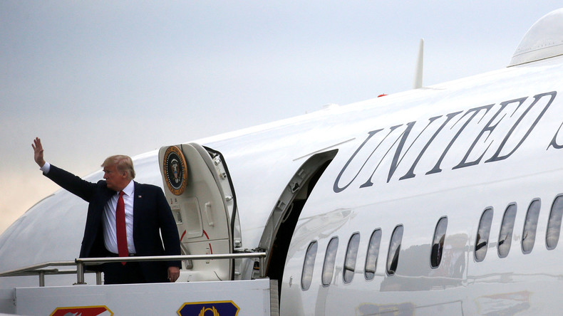
{"label": "open white aircraft door bearing the round seal, behind the man", "polygon": [[[200,144],[179,144],[161,147],[158,161],[182,254],[233,253],[242,241],[234,188],[222,155]],[[230,259],[185,260],[182,268],[192,281],[232,280],[234,275]]]}

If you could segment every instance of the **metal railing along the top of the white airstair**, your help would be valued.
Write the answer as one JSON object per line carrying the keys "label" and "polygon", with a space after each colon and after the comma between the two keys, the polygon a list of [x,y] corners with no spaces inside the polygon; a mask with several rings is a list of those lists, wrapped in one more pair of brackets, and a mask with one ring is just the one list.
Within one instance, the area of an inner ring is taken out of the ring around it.
{"label": "metal railing along the top of the white airstair", "polygon": [[[22,275],[38,275],[39,286],[45,286],[45,275],[57,274],[75,274],[76,283],[74,285],[86,284],[84,282],[84,273],[95,272],[96,284],[102,284],[101,273],[99,271],[86,271],[87,265],[98,265],[100,263],[110,262],[130,262],[130,261],[170,261],[170,260],[220,260],[220,259],[259,259],[259,278],[265,278],[264,259],[266,253],[222,253],[216,255],[182,255],[182,256],[134,256],[134,257],[110,257],[110,258],[76,258],[74,261],[48,261],[29,265],[24,268],[8,270],[0,273],[1,277],[22,276]],[[43,269],[56,266],[76,265],[76,270],[59,270],[56,268]]]}

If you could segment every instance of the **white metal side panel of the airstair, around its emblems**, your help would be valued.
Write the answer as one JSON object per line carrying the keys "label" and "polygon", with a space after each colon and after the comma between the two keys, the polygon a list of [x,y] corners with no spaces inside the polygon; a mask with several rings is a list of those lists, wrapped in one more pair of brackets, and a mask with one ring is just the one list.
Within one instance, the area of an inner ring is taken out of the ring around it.
{"label": "white metal side panel of the airstair, around its emblems", "polygon": [[16,288],[16,312],[51,315],[58,307],[105,306],[113,315],[178,315],[187,302],[232,301],[238,316],[270,315],[269,289],[268,279]]}

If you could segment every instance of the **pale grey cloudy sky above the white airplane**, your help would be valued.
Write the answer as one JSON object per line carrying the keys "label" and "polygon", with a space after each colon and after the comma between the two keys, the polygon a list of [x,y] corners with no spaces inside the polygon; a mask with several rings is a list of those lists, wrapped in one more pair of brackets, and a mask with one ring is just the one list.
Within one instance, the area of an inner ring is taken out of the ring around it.
{"label": "pale grey cloudy sky above the white airplane", "polygon": [[[304,3],[306,2],[306,3]],[[0,232],[58,187],[134,156],[504,68],[561,1],[0,1]]]}

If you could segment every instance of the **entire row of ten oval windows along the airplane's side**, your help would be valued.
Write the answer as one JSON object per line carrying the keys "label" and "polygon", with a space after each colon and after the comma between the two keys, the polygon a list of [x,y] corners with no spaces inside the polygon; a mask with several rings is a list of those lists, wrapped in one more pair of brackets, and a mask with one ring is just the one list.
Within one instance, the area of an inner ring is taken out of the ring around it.
{"label": "entire row of ten oval windows along the airplane's side", "polygon": [[[534,247],[540,206],[541,201],[539,199],[533,199],[528,207],[524,229],[522,231],[522,253],[531,253],[532,248]],[[504,216],[502,216],[502,224],[500,226],[499,239],[497,243],[497,253],[500,258],[508,256],[508,252],[510,251],[516,211],[516,204],[511,203],[507,206]],[[485,211],[483,211],[479,221],[474,251],[475,261],[477,262],[485,259],[485,255],[487,254],[487,245],[489,242],[490,228],[492,224],[492,214],[492,207],[488,207]],[[562,218],[563,194],[559,194],[553,201],[547,223],[546,246],[549,250],[554,249],[559,242]],[[446,228],[448,228],[448,217],[444,216],[438,220],[434,230],[432,248],[430,251],[431,268],[438,268],[440,261],[442,260]],[[391,234],[391,241],[389,243],[389,251],[387,253],[386,262],[386,272],[388,275],[394,275],[396,272],[402,240],[403,225],[398,225],[393,230],[393,233]],[[364,263],[363,268],[363,275],[366,280],[372,280],[376,275],[376,265],[379,257],[380,243],[381,228],[377,228],[371,233],[368,248],[366,249],[366,262]],[[342,274],[344,283],[350,283],[352,281],[354,270],[356,270],[356,257],[358,255],[359,244],[360,233],[353,233],[351,238],[348,240],[346,256],[344,257],[344,270]],[[332,237],[328,246],[326,246],[323,270],[321,273],[321,282],[324,286],[328,286],[332,282],[338,246],[338,236]],[[318,243],[316,241],[311,241],[311,243],[309,243],[309,247],[307,248],[301,274],[301,288],[303,290],[308,290],[311,286],[317,248]]]}

